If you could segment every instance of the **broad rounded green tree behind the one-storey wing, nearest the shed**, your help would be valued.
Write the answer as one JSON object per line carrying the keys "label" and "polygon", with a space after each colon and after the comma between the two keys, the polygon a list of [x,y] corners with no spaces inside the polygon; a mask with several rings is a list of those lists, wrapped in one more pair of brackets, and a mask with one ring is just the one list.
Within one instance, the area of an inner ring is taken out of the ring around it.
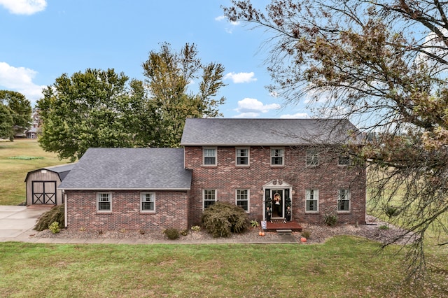
{"label": "broad rounded green tree behind the one-storey wing, nearest the shed", "polygon": [[37,102],[43,122],[39,143],[73,162],[90,147],[134,147],[152,123],[143,83],[113,69],[63,74]]}

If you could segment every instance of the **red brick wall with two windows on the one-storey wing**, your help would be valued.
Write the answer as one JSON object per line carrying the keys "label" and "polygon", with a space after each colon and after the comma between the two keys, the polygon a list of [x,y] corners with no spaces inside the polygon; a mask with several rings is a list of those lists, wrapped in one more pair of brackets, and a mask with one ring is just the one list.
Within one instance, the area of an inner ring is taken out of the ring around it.
{"label": "red brick wall with two windows on the one-storey wing", "polygon": [[99,191],[112,194],[111,213],[97,212],[96,191],[66,190],[67,226],[90,230],[188,228],[187,192],[155,192],[155,213],[140,211],[140,191]]}

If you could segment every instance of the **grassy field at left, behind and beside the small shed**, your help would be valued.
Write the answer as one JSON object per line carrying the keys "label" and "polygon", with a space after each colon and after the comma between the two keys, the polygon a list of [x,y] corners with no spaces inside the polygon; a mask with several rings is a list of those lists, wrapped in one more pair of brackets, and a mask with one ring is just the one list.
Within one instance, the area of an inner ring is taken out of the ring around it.
{"label": "grassy field at left, behind and beside the small shed", "polygon": [[66,164],[52,152],[45,152],[36,139],[0,141],[0,205],[26,201],[25,178],[29,171]]}

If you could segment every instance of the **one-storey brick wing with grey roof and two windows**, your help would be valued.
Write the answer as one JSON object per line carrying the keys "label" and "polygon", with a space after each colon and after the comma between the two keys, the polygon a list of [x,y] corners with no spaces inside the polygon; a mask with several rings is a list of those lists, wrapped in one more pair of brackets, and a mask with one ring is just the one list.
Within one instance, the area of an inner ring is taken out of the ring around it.
{"label": "one-storey brick wing with grey roof and two windows", "polygon": [[188,227],[191,171],[181,148],[90,148],[59,188],[66,227]]}

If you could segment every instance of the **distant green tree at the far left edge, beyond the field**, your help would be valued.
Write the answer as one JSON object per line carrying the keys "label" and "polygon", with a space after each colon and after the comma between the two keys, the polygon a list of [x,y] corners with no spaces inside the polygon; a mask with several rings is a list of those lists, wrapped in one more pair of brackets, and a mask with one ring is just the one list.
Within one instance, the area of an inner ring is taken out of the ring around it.
{"label": "distant green tree at the far left edge, beyond the field", "polygon": [[[9,115],[12,118],[13,129],[12,134],[8,136],[11,140],[14,139],[14,133],[22,133],[27,129],[31,123],[31,103],[26,99],[25,95],[9,90],[0,90],[0,103],[6,106]],[[5,113],[5,112],[3,112]],[[2,118],[8,118],[3,116]],[[2,125],[6,125],[2,120]]]}

